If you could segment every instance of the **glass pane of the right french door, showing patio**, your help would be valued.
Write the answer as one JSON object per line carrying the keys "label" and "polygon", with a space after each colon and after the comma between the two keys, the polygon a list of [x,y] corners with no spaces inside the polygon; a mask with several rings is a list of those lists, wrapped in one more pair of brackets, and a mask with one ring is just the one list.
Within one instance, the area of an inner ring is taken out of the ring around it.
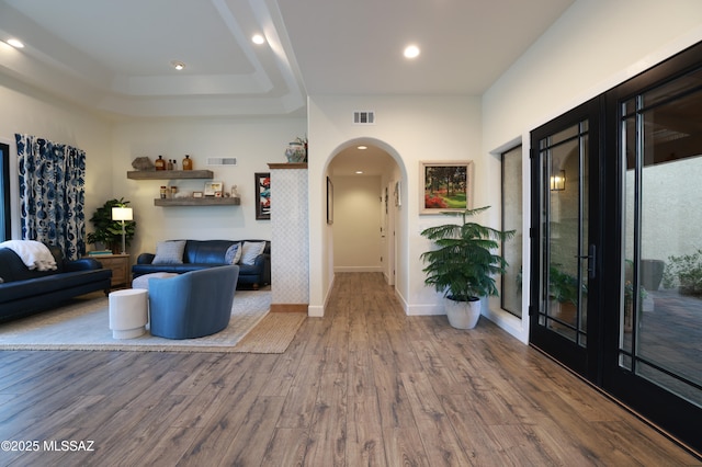
{"label": "glass pane of the right french door, showing patio", "polygon": [[[702,73],[621,105],[620,357],[702,407]],[[697,82],[697,89],[693,83]]]}

